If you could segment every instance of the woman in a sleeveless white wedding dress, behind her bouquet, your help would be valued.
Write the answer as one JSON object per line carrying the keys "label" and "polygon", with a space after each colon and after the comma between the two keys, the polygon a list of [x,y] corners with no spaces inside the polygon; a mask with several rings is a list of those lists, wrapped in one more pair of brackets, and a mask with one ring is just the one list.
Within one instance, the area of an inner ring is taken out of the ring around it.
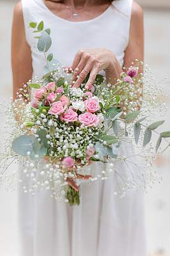
{"label": "woman in a sleeveless white wedding dress, behind her bouquet", "polygon": [[[21,84],[43,76],[45,61],[29,29],[29,22],[41,20],[51,29],[57,61],[73,67],[75,87],[89,72],[91,86],[101,70],[114,83],[124,65],[143,60],[143,12],[132,0],[22,0],[13,17],[14,97]],[[115,186],[113,177],[82,184],[81,204],[73,207],[56,202],[48,191],[34,196],[20,191],[21,255],[145,256],[143,196],[131,191],[120,199]]]}

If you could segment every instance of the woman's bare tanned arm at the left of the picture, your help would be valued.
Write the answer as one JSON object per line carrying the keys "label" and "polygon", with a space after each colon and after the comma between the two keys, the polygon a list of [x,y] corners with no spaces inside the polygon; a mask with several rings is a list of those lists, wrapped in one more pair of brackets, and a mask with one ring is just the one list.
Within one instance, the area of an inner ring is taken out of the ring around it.
{"label": "woman's bare tanned arm at the left of the picture", "polygon": [[13,71],[13,99],[18,89],[32,77],[31,49],[26,42],[22,4],[15,6],[13,13],[11,65]]}

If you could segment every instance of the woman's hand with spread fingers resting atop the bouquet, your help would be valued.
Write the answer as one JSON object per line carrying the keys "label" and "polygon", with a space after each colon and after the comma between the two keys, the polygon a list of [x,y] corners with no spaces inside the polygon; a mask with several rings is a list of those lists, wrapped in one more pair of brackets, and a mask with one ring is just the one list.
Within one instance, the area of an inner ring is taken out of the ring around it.
{"label": "woman's hand with spread fingers resting atop the bouquet", "polygon": [[101,48],[78,51],[74,57],[72,68],[74,71],[72,84],[75,88],[78,88],[90,73],[86,84],[87,89],[91,88],[101,70],[105,70],[107,81],[113,84],[122,72],[113,52]]}

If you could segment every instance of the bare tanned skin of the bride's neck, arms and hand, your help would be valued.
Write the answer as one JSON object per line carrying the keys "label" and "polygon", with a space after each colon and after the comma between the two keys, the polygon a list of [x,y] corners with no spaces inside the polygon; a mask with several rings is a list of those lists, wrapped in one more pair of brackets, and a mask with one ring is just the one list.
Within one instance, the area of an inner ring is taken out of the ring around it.
{"label": "bare tanned skin of the bride's neck, arms and hand", "polygon": [[[46,6],[62,19],[72,21],[75,21],[75,18],[73,13],[67,10],[66,4],[71,7],[71,10],[76,10],[77,12],[84,10],[84,12],[81,12],[80,17],[76,18],[76,21],[93,19],[101,15],[109,6],[108,1],[99,0],[53,1],[45,1]],[[143,10],[134,2],[129,45],[125,50],[124,66],[131,66],[132,61],[136,58],[143,61]],[[13,70],[13,98],[15,99],[21,84],[27,83],[32,77],[31,49],[25,39],[24,19],[20,2],[15,6],[13,13],[11,65]],[[80,86],[89,72],[90,77],[87,83],[89,88],[100,70],[105,70],[106,78],[110,83],[115,83],[115,79],[122,72],[122,67],[120,67],[114,52],[108,49],[80,49],[75,54],[72,68],[74,70],[74,87]]]}

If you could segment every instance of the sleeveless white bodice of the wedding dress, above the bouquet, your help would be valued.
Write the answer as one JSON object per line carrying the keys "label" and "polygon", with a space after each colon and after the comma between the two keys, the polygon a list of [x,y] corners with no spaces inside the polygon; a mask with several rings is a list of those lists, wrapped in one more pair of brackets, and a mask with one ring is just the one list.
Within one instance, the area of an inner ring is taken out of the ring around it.
{"label": "sleeveless white bodice of the wedding dress, above the bouquet", "polygon": [[43,0],[22,0],[25,36],[31,47],[32,76],[43,75],[45,60],[36,48],[37,39],[29,28],[29,22],[44,21],[51,29],[54,58],[61,65],[70,66],[80,49],[102,47],[112,51],[120,65],[124,63],[125,49],[129,43],[132,0],[116,0],[98,17],[81,22],[62,19],[52,13]]}

